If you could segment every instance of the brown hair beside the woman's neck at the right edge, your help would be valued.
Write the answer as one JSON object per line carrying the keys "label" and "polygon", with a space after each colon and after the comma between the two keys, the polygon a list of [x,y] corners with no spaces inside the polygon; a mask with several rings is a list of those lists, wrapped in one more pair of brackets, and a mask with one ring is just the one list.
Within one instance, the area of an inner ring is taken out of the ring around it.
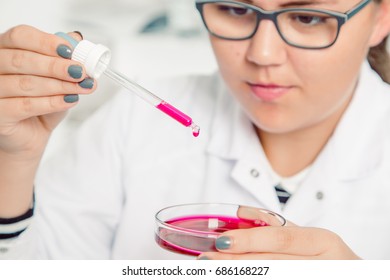
{"label": "brown hair beside the woman's neck at the right edge", "polygon": [[[376,3],[381,3],[382,0],[375,0]],[[372,47],[368,53],[368,61],[378,75],[388,84],[390,84],[390,54],[387,50],[387,36],[383,41]]]}

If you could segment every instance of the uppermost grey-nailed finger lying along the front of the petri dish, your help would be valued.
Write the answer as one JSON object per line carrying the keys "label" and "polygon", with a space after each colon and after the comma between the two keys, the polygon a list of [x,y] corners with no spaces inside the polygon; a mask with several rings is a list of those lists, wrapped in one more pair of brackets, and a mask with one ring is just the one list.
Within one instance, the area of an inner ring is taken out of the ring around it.
{"label": "uppermost grey-nailed finger lying along the front of the petri dish", "polygon": [[280,253],[314,256],[340,243],[336,234],[318,228],[258,227],[232,230],[216,239],[218,250],[227,253]]}

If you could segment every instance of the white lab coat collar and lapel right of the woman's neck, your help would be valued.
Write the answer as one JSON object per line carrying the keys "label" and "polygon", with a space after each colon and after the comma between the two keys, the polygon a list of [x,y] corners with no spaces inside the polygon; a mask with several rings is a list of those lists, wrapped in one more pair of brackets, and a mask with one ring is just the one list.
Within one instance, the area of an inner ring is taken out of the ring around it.
{"label": "white lab coat collar and lapel right of the woman's neck", "polygon": [[376,88],[383,83],[367,63],[362,71],[364,75],[361,75],[354,97],[337,129],[284,209],[285,217],[294,223],[315,223],[325,214],[329,200],[340,194],[340,187],[356,186],[359,180],[370,176],[383,160],[384,133],[389,128],[388,124],[383,124],[383,119],[386,119],[383,114],[389,112],[388,106],[383,106],[383,100],[387,98],[387,104],[390,104],[390,95],[385,97],[383,93],[386,90]]}

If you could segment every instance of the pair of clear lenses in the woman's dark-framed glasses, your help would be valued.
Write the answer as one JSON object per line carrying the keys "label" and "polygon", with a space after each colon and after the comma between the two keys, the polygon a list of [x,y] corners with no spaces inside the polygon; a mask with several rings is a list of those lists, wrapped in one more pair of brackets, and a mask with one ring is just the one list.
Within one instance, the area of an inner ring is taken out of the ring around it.
{"label": "pair of clear lenses in the woman's dark-framed glasses", "polygon": [[[262,19],[261,14],[254,9],[228,2],[204,4],[203,17],[211,33],[235,40],[253,36],[257,29],[258,17]],[[336,40],[339,28],[336,17],[319,11],[284,11],[277,14],[276,21],[283,39],[300,47],[328,46]]]}

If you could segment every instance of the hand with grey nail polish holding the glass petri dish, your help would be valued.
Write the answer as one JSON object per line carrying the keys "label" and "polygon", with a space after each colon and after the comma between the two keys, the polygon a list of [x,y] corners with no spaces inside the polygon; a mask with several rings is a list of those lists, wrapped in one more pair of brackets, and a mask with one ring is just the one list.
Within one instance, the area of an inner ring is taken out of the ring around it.
{"label": "hand with grey nail polish holding the glass petri dish", "polygon": [[291,223],[227,231],[218,237],[216,247],[219,252],[203,253],[198,259],[359,259],[337,234]]}

